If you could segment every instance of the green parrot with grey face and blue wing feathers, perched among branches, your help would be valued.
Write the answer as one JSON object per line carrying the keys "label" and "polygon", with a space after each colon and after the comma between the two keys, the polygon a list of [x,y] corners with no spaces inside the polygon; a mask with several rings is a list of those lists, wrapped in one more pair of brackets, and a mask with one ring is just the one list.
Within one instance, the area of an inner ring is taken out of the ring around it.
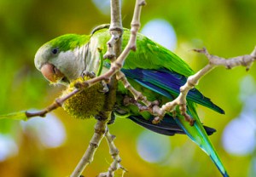
{"label": "green parrot with grey face and blue wing feathers, perched among branches", "polygon": [[[130,34],[128,29],[124,29],[123,49],[128,43]],[[35,55],[35,66],[50,83],[69,85],[84,73],[100,76],[110,67],[110,61],[103,59],[109,38],[108,26],[96,27],[90,35],[67,34],[56,37],[38,49]],[[186,83],[187,77],[194,74],[194,71],[176,54],[140,33],[137,34],[137,50],[128,55],[121,71],[132,87],[142,92],[148,100],[158,100],[160,106],[175,99],[179,94],[179,88]],[[208,139],[208,135],[216,130],[201,124],[195,105],[201,104],[222,114],[224,111],[196,88],[190,90],[187,97],[188,114],[195,120],[193,126],[184,120],[178,110],[175,117],[174,115],[172,117],[172,113],[166,113],[160,123],[154,124],[152,123],[154,116],[148,111],[139,111],[136,104],[132,104],[132,102],[134,100],[132,100],[131,93],[125,89],[122,83],[118,82],[116,104],[113,106],[115,117],[129,118],[144,128],[159,134],[187,134],[211,157],[220,173],[223,176],[228,176],[223,163]],[[95,111],[92,114],[96,114]]]}

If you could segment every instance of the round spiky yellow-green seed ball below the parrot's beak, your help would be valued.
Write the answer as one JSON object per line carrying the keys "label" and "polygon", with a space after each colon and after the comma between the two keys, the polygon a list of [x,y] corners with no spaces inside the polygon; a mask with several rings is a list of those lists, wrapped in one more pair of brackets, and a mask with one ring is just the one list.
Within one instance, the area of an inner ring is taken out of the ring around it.
{"label": "round spiky yellow-green seed ball below the parrot's beak", "polygon": [[[83,82],[84,80],[89,80],[90,77],[79,77],[73,83],[67,87],[62,95],[65,95],[74,89],[74,83]],[[91,118],[96,116],[99,111],[102,111],[105,103],[105,94],[101,92],[102,84],[96,83],[90,88],[84,89],[79,94],[74,95],[72,98],[68,99],[63,104],[63,109],[67,111],[69,115],[75,118]]]}

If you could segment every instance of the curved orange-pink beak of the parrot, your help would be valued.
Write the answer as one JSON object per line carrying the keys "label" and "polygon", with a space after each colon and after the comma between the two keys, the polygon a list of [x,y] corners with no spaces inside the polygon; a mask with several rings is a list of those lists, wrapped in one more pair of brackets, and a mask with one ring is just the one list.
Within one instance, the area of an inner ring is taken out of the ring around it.
{"label": "curved orange-pink beak of the parrot", "polygon": [[44,77],[52,83],[57,83],[65,77],[60,70],[50,63],[45,63],[44,66],[41,67],[41,72]]}

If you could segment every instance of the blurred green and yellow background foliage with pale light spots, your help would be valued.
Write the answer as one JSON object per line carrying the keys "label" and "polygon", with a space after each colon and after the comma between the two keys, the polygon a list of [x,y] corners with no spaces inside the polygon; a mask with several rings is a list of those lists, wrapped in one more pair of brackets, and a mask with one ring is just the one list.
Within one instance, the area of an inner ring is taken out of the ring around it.
{"label": "blurred green and yellow background foliage with pale light spots", "polygon": [[[147,3],[141,17],[143,30],[149,29],[149,36],[154,27],[167,30],[153,34],[169,30],[171,38],[167,34],[164,38],[172,43],[170,48],[195,71],[207,59],[191,49],[207,47],[212,54],[232,57],[250,54],[256,44],[255,0]],[[134,1],[122,1],[125,27],[130,27],[133,7]],[[0,115],[42,109],[61,94],[63,88],[50,86],[34,67],[34,54],[43,43],[65,33],[88,34],[109,21],[105,0],[0,0]],[[159,26],[152,27],[151,22]],[[230,176],[256,176],[256,65],[248,72],[242,67],[232,71],[219,67],[199,87],[226,112],[219,115],[198,106],[202,122],[218,130],[210,139]],[[61,108],[26,123],[0,120],[0,176],[71,174],[88,146],[95,122],[69,117]],[[220,176],[210,158],[187,136],[150,133],[126,119],[116,120],[109,128],[117,135],[122,165],[129,170],[125,176]],[[103,140],[84,175],[96,176],[111,162]],[[120,175],[118,171],[116,176]]]}

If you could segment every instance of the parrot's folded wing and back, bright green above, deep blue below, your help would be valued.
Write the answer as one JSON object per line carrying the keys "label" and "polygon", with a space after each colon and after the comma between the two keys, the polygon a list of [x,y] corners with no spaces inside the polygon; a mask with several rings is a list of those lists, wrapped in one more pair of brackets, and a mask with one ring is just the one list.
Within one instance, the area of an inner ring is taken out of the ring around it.
{"label": "parrot's folded wing and back, bright green above, deep blue below", "polygon": [[[123,48],[128,43],[130,34],[130,31],[125,29]],[[110,37],[108,29],[96,31],[93,36],[100,43],[100,48],[106,51],[106,43]],[[179,88],[186,82],[186,77],[194,74],[194,71],[176,54],[140,33],[137,35],[137,51],[131,51],[125,60],[122,71],[126,77],[136,80],[140,85],[143,84],[143,87],[147,87],[171,100],[179,94]],[[163,89],[170,94],[163,94],[163,91],[161,91]],[[189,92],[188,99],[219,113],[224,113],[221,108],[214,105],[210,99],[203,96],[197,89]]]}

